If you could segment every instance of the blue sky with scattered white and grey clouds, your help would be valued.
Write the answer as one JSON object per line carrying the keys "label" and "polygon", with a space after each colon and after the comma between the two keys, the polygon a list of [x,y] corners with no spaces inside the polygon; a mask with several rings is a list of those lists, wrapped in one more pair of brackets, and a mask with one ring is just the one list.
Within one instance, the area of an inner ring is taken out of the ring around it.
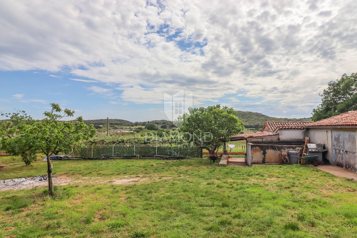
{"label": "blue sky with scattered white and grey clouds", "polygon": [[[0,0],[0,111],[167,119],[192,93],[268,116],[309,117],[357,72],[357,1]],[[4,119],[4,117],[0,117]]]}

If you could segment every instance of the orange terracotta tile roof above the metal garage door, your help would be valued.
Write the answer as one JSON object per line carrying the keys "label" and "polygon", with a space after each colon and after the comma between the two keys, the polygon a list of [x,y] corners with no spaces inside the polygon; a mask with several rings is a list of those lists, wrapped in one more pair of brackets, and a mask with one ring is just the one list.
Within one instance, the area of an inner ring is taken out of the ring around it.
{"label": "orange terracotta tile roof above the metal garage door", "polygon": [[305,127],[357,126],[357,111],[349,111],[320,121],[308,123]]}

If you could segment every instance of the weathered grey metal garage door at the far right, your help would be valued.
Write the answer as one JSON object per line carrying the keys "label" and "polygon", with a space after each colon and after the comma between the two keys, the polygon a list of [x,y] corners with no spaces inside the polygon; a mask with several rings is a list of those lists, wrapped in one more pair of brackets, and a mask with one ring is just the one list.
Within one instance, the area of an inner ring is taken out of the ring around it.
{"label": "weathered grey metal garage door at the far right", "polygon": [[356,132],[332,131],[333,164],[357,172]]}

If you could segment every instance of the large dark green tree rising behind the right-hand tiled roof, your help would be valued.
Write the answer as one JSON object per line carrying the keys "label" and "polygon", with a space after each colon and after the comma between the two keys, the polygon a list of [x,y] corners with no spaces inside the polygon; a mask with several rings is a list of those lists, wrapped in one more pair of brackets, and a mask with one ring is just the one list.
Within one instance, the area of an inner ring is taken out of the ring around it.
{"label": "large dark green tree rising behind the right-hand tiled roof", "polygon": [[357,110],[357,73],[342,75],[341,79],[330,81],[321,96],[321,104],[312,110],[313,121]]}

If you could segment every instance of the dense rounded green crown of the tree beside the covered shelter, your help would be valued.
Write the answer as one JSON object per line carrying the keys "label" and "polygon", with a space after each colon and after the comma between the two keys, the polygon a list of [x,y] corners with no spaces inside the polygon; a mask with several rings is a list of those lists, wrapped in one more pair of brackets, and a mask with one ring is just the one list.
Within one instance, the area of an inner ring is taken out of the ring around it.
{"label": "dense rounded green crown of the tree beside the covered shelter", "polygon": [[187,141],[205,148],[211,154],[221,141],[229,141],[230,136],[244,129],[243,122],[235,115],[233,108],[218,104],[207,108],[189,108],[188,112],[179,131]]}

